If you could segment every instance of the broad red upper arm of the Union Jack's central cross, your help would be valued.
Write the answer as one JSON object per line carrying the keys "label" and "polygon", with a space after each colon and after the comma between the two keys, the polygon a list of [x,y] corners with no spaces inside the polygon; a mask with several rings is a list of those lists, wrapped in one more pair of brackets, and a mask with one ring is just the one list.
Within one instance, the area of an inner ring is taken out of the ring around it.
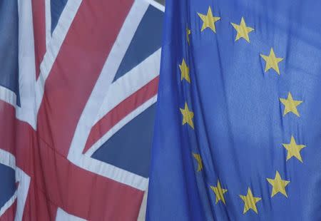
{"label": "broad red upper arm of the Union Jack's central cross", "polygon": [[46,80],[37,125],[41,138],[63,156],[132,4],[82,1],[63,41]]}

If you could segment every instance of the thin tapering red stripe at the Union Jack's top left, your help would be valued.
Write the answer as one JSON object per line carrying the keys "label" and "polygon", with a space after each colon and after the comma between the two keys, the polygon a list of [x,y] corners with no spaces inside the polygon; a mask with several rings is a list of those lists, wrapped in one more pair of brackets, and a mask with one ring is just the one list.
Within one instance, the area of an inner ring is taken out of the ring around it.
{"label": "thin tapering red stripe at the Union Jack's top left", "polygon": [[40,74],[40,64],[46,53],[46,6],[44,0],[32,0],[34,25],[34,51],[36,58],[36,79]]}

